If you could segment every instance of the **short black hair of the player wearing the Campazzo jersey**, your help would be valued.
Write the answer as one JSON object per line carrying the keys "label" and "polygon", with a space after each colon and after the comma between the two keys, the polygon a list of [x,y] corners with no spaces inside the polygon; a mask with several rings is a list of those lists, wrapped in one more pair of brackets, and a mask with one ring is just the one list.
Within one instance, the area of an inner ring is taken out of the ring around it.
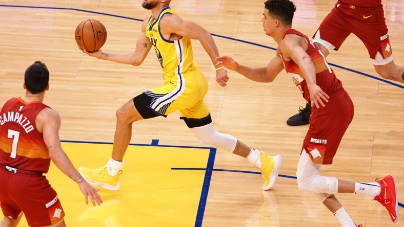
{"label": "short black hair of the player wearing the Campazzo jersey", "polygon": [[43,92],[49,84],[49,71],[44,63],[35,61],[25,71],[25,86],[31,94]]}

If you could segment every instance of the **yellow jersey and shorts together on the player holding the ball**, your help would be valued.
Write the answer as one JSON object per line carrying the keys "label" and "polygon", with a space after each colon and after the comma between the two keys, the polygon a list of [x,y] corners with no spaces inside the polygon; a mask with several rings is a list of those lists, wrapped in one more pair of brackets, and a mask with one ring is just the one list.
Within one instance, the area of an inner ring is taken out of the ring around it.
{"label": "yellow jersey and shorts together on the player holding the ball", "polygon": [[176,15],[170,7],[163,8],[157,18],[150,16],[146,27],[164,78],[163,86],[143,93],[152,98],[149,109],[164,117],[178,110],[181,119],[210,119],[204,102],[208,82],[193,61],[191,39],[166,39],[160,31],[160,20],[166,14]]}

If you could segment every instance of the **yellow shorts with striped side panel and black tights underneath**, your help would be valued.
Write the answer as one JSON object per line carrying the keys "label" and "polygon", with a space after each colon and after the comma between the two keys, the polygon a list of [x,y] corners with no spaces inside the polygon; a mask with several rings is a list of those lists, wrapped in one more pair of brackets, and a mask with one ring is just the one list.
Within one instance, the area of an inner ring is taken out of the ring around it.
{"label": "yellow shorts with striped side panel and black tights underneath", "polygon": [[[204,102],[208,81],[196,68],[183,74],[165,76],[164,85],[144,92],[133,99],[136,109],[144,119],[167,117],[179,111],[188,127],[198,127],[212,122]],[[152,111],[153,113],[151,113]]]}

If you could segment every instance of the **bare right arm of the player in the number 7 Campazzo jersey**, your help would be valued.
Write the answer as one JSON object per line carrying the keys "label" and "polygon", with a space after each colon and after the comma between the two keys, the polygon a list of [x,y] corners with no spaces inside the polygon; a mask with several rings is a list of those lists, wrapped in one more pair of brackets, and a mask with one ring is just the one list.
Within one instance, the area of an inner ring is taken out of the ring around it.
{"label": "bare right arm of the player in the number 7 Campazzo jersey", "polygon": [[97,193],[99,189],[93,188],[83,179],[60,146],[60,117],[58,113],[51,108],[45,108],[38,113],[35,123],[37,124],[38,130],[43,133],[44,141],[48,147],[52,162],[60,171],[68,175],[78,184],[85,196],[86,204],[88,204],[88,197],[90,197],[93,206],[95,206],[95,203],[97,203],[98,206],[103,203],[103,200]]}

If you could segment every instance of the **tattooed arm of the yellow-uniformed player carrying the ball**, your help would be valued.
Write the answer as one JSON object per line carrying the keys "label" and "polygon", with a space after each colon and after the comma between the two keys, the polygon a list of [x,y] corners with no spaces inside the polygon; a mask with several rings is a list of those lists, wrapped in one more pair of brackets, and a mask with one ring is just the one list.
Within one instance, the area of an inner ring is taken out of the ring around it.
{"label": "tattooed arm of the yellow-uniformed player carrying the ball", "polygon": [[131,64],[134,66],[138,66],[142,64],[145,60],[147,54],[151,49],[151,42],[149,38],[146,36],[146,26],[148,23],[149,17],[147,17],[142,24],[142,31],[136,42],[136,49],[134,52],[129,53],[104,53],[101,49],[94,52],[87,52],[86,50],[80,49],[83,53],[86,53],[89,56],[96,57],[98,59],[114,61],[122,64]]}

